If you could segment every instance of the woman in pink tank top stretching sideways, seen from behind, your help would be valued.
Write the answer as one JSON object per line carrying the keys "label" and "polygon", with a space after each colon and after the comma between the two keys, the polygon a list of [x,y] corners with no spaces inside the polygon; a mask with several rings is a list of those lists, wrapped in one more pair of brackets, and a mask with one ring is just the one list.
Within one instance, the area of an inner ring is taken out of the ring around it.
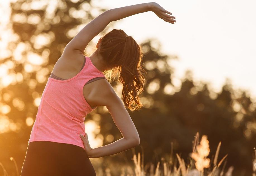
{"label": "woman in pink tank top stretching sideways, seen from behind", "polygon": [[[113,155],[140,144],[126,110],[143,106],[138,97],[144,90],[140,45],[123,30],[114,29],[99,39],[90,57],[84,56],[84,50],[111,21],[147,11],[166,22],[176,22],[170,12],[154,2],[110,9],[66,45],[43,91],[21,176],[96,175],[89,158]],[[113,73],[119,73],[124,103],[109,83]],[[97,106],[106,106],[123,138],[91,148],[84,120]]]}

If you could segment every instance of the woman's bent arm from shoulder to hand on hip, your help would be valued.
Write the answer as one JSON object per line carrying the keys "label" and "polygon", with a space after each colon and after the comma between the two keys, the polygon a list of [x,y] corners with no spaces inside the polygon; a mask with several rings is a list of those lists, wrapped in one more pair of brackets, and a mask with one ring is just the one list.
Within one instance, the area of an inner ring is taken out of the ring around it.
{"label": "woman's bent arm from shoulder to hand on hip", "polygon": [[97,106],[106,106],[114,120],[114,123],[123,135],[123,138],[111,144],[92,149],[88,142],[87,134],[85,134],[85,137],[80,136],[87,156],[89,158],[99,158],[138,146],[140,144],[138,131],[131,120],[128,111],[125,109],[123,102],[118,95],[116,95],[113,87],[106,79],[99,79],[94,82],[97,82],[98,86],[94,86],[95,88],[90,91],[87,101]]}

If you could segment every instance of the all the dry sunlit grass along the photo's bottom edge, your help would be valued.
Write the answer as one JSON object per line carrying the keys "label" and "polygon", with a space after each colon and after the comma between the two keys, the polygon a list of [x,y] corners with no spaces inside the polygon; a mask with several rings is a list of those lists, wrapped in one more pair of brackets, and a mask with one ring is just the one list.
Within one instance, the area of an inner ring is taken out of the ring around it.
{"label": "all the dry sunlit grass along the photo's bottom edge", "polygon": [[[199,134],[197,133],[195,139],[193,141],[193,149],[192,153],[190,153],[190,163],[186,164],[184,159],[181,158],[178,154],[176,157],[173,155],[173,143],[171,143],[171,154],[168,161],[165,161],[164,158],[161,158],[161,161],[157,162],[156,167],[152,163],[147,163],[144,165],[143,163],[143,153],[135,154],[135,149],[133,149],[133,166],[121,166],[117,167],[107,167],[106,169],[102,170],[100,168],[97,170],[98,176],[111,176],[111,170],[115,172],[114,175],[120,176],[232,176],[232,172],[234,167],[231,166],[227,169],[224,173],[224,168],[226,166],[226,157],[225,155],[219,162],[218,162],[218,155],[221,147],[221,142],[217,147],[215,152],[214,159],[212,162],[210,161],[207,156],[209,155],[209,141],[207,140],[207,136],[203,135],[200,142],[199,142]],[[253,174],[252,176],[256,176],[256,150],[255,157],[252,163],[253,167]],[[14,161],[16,174],[18,176],[18,168],[16,165],[16,161],[13,157],[10,158],[11,161]],[[224,162],[225,161],[225,162]],[[222,165],[222,163],[224,164]],[[161,167],[160,167],[161,164]],[[3,164],[0,162],[0,165],[4,171],[4,176],[9,176],[6,169],[4,168]],[[117,174],[117,172],[119,174]],[[113,173],[113,172],[112,172]]]}

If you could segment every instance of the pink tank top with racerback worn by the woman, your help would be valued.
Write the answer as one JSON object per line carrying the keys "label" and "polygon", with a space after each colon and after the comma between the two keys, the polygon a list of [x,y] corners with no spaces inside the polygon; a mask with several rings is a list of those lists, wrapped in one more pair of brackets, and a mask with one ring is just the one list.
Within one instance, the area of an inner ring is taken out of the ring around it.
{"label": "pink tank top with racerback worn by the woman", "polygon": [[52,141],[80,146],[79,134],[85,135],[85,116],[92,107],[83,96],[83,86],[93,78],[105,75],[85,56],[85,65],[73,78],[48,78],[28,143]]}

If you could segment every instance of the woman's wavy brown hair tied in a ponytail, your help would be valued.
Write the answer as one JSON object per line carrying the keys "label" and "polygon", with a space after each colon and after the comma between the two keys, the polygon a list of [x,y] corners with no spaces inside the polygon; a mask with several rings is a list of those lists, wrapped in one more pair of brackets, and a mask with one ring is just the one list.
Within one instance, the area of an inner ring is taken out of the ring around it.
{"label": "woman's wavy brown hair tied in a ponytail", "polygon": [[106,67],[104,71],[109,82],[118,74],[118,80],[123,85],[123,102],[131,111],[143,107],[138,95],[144,91],[145,78],[142,73],[141,46],[121,29],[113,29],[101,38],[101,43],[95,51],[102,56]]}

